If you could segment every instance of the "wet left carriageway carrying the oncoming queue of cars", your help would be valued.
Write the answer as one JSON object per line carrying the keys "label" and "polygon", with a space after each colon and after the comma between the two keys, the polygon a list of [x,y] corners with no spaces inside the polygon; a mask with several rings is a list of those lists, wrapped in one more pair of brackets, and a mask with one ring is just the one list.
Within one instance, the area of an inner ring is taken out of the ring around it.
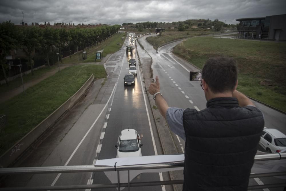
{"label": "wet left carriageway carrying the oncoming queue of cars", "polygon": [[[126,38],[122,49],[112,54],[104,64],[107,80],[96,80],[86,96],[53,128],[25,153],[13,167],[91,165],[98,159],[116,157],[118,136],[123,129],[136,129],[142,138],[142,156],[162,154],[150,104],[143,91],[142,74],[138,70],[134,86],[124,87],[128,73]],[[137,62],[138,63],[138,62]],[[131,182],[169,180],[167,173],[144,173]],[[110,180],[104,173],[66,173],[13,175],[1,186],[60,186],[105,184]],[[117,189],[103,189],[117,190]],[[126,188],[124,189],[126,190]],[[131,188],[130,190],[138,190]],[[140,190],[172,190],[172,186],[148,186]]]}

